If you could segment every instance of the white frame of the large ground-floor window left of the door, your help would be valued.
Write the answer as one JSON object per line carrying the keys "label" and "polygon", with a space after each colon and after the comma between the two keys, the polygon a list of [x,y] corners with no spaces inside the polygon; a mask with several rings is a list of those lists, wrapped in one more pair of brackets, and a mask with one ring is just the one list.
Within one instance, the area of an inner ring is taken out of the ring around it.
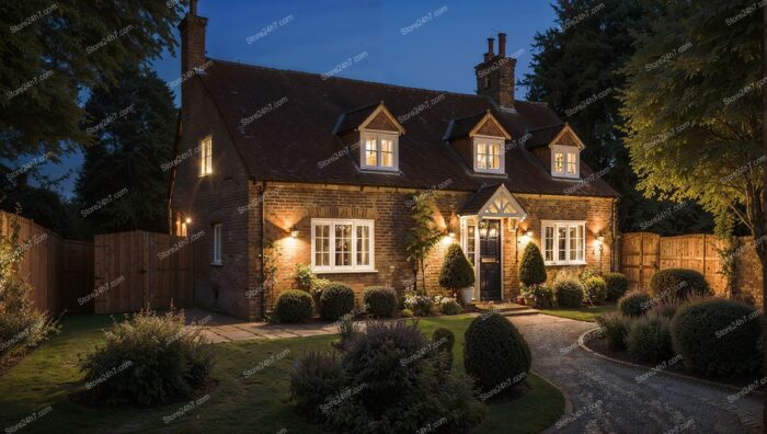
{"label": "white frame of the large ground-floor window left of the door", "polygon": [[[335,226],[352,225],[352,265],[335,265]],[[330,260],[329,265],[317,265],[316,233],[318,226],[330,226]],[[366,226],[370,231],[368,265],[357,265],[357,228]],[[376,237],[375,220],[348,219],[348,218],[312,218],[311,219],[311,270],[317,273],[369,273],[376,272]]]}

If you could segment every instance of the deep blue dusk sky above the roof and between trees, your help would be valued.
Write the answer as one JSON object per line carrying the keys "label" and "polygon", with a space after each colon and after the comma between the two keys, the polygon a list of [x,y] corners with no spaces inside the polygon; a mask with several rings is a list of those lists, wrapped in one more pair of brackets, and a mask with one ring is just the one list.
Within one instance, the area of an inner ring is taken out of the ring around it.
{"label": "deep blue dusk sky above the roof and between trees", "polygon": [[[413,26],[430,12],[431,20]],[[506,53],[520,53],[520,78],[529,71],[536,32],[553,26],[556,18],[546,0],[201,0],[198,14],[208,18],[206,45],[213,58],[322,73],[367,53],[339,76],[463,93],[474,91],[473,67],[488,37],[507,33]],[[262,32],[281,20],[284,25]],[[409,26],[410,32],[402,31]],[[165,81],[181,75],[170,53],[153,67]],[[525,93],[517,89],[517,98]],[[44,172],[77,172],[81,162],[82,156],[73,155]],[[76,173],[61,184],[65,196],[71,195],[75,179]]]}

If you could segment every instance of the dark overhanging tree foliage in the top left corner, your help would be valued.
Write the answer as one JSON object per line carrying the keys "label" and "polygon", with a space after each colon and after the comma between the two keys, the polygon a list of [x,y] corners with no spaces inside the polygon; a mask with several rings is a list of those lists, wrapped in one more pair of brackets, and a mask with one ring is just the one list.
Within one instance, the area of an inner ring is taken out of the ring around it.
{"label": "dark overhanging tree foliage in the top left corner", "polygon": [[0,3],[0,157],[90,145],[83,90],[116,84],[123,65],[173,53],[181,1],[76,0]]}

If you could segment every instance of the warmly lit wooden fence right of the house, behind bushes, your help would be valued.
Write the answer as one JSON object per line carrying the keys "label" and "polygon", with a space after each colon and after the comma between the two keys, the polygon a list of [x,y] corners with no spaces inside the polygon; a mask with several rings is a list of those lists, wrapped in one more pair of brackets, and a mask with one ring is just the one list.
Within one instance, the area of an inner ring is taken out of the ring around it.
{"label": "warmly lit wooden fence right of the house, behind bushes", "polygon": [[[620,267],[629,279],[629,289],[648,289],[659,270],[689,269],[703,274],[717,294],[726,288],[717,249],[721,240],[710,235],[661,237],[638,232],[621,236]],[[744,252],[743,254],[754,254]]]}

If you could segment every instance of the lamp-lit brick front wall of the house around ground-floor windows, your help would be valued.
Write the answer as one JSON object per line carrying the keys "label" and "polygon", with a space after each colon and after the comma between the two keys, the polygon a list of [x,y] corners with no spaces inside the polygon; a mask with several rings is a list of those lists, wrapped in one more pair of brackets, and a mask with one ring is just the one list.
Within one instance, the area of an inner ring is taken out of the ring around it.
{"label": "lamp-lit brick front wall of the house around ground-floor windows", "polygon": [[[412,191],[351,187],[340,185],[270,183],[264,195],[265,238],[279,247],[282,256],[275,293],[291,288],[296,263],[311,263],[311,218],[363,218],[375,220],[375,273],[323,274],[322,277],[342,281],[351,285],[357,295],[366,286],[386,285],[404,288],[412,284],[412,272],[405,260],[404,233],[410,227],[407,195]],[[251,191],[251,194],[259,194]],[[438,286],[439,267],[447,247],[459,242],[459,220],[456,212],[470,196],[461,192],[435,193],[437,209],[435,220],[440,228],[456,232],[450,239],[445,237],[431,252],[426,261],[426,287],[430,293],[445,293]],[[598,253],[594,251],[596,235],[611,231],[611,199],[574,198],[561,196],[515,195],[530,217],[520,228],[534,231],[533,242],[540,243],[540,220],[586,220],[586,260],[589,266],[597,267]],[[251,196],[259,202],[257,196]],[[253,218],[253,217],[251,217]],[[289,230],[296,228],[297,238]],[[513,299],[518,294],[516,270],[524,245],[522,237],[514,238],[504,221],[503,230],[503,274],[504,298]],[[611,252],[606,240],[603,251],[603,270],[610,270]],[[251,245],[252,249],[252,245]],[[251,254],[251,270],[256,270],[260,259]],[[562,267],[549,267],[553,275]],[[579,267],[583,269],[583,267]],[[257,286],[257,282],[252,283]],[[270,297],[272,300],[275,297]],[[268,306],[271,307],[271,306]]]}

